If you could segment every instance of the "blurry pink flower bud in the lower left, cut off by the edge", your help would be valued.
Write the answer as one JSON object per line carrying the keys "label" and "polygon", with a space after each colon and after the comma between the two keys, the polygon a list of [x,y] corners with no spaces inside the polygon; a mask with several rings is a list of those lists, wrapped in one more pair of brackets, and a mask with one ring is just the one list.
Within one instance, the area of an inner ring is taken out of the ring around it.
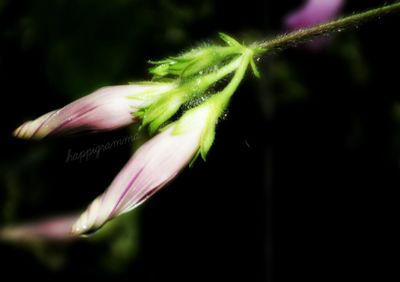
{"label": "blurry pink flower bud in the lower left, cut off by the edge", "polygon": [[70,240],[73,238],[71,227],[76,219],[77,215],[69,215],[6,227],[0,229],[0,239],[7,241]]}

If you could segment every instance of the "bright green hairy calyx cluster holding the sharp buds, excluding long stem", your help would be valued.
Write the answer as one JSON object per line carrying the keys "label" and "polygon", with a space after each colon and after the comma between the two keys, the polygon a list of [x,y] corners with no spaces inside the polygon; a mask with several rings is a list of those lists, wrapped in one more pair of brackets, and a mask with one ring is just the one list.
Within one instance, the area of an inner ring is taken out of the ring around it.
{"label": "bright green hairy calyx cluster holding the sharp buds, excluding long stem", "polygon": [[[168,124],[182,105],[194,98],[204,97],[205,93],[207,93],[207,96],[211,94],[211,98],[207,99],[209,102],[203,102],[203,104],[213,103],[215,105],[218,104],[218,106],[209,106],[213,108],[211,112],[214,113],[210,114],[212,118],[207,118],[209,121],[207,121],[206,128],[208,129],[202,135],[199,154],[203,159],[205,159],[214,141],[215,124],[223,111],[220,109],[225,109],[230,96],[232,96],[242,80],[249,64],[255,76],[259,76],[254,57],[264,51],[261,48],[246,47],[223,33],[220,34],[220,37],[226,43],[226,46],[205,46],[178,57],[152,62],[156,66],[151,68],[150,72],[154,75],[156,81],[173,79],[172,81],[177,86],[172,90],[166,91],[150,105],[143,106],[135,113],[136,116],[142,119],[142,127],[148,126],[150,133],[153,134],[160,127]],[[240,78],[237,75],[238,71],[240,72]],[[214,84],[231,73],[235,73],[235,75],[224,90],[216,94],[210,93],[210,89]],[[232,82],[234,83],[232,84]],[[218,103],[216,102],[217,100],[219,100]],[[187,113],[189,114],[190,112],[191,110]],[[181,119],[184,116],[186,116],[186,113]],[[184,122],[180,120],[179,123],[181,125],[178,128],[183,128],[182,124]],[[192,118],[184,118],[184,120],[192,120]],[[175,132],[178,131],[175,130]]]}

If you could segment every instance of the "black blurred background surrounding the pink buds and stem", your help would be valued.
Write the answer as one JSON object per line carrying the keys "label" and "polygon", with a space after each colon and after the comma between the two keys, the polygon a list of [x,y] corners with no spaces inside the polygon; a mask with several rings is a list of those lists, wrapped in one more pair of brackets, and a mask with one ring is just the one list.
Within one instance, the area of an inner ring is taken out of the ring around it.
{"label": "black blurred background surrounding the pink buds and stem", "polygon": [[[385,2],[347,1],[342,14]],[[23,121],[101,86],[149,79],[149,59],[217,42],[219,31],[273,37],[302,3],[0,0],[0,226],[81,210],[138,145],[66,162],[69,151],[135,133],[11,138]],[[265,56],[206,163],[90,239],[0,242],[2,275],[325,281],[384,272],[400,184],[399,20],[343,32],[319,51]]]}

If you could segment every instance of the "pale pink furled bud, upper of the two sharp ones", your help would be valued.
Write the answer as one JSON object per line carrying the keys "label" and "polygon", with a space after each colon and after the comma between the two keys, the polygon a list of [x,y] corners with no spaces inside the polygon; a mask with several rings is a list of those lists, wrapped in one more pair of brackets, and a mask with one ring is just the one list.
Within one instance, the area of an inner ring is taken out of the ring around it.
{"label": "pale pink furled bud, upper of the two sharp ones", "polygon": [[59,110],[25,122],[13,134],[18,138],[40,139],[48,135],[127,126],[137,121],[134,112],[138,107],[152,103],[173,87],[172,83],[103,87]]}

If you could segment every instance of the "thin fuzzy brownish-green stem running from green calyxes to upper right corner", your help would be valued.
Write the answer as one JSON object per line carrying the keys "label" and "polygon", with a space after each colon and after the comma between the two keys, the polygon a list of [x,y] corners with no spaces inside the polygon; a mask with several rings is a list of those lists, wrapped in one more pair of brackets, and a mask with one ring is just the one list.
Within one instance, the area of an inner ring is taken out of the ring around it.
{"label": "thin fuzzy brownish-green stem running from green calyxes to upper right corner", "polygon": [[309,40],[313,37],[328,35],[331,33],[341,32],[344,29],[358,27],[359,24],[362,24],[366,21],[373,20],[375,18],[379,18],[380,16],[398,11],[400,11],[400,2],[372,9],[366,12],[354,14],[311,28],[300,29],[298,31],[278,36],[277,38],[272,40],[254,43],[251,47],[264,48],[267,52],[274,49],[284,49],[286,47],[290,47]]}

